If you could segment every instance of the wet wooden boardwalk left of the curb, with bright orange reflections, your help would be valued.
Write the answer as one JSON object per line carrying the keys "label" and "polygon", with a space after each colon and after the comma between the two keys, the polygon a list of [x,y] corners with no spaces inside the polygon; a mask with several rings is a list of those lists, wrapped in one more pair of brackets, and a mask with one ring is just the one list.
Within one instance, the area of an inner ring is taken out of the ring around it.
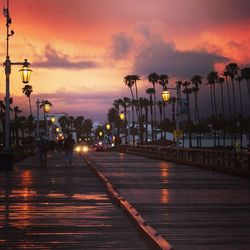
{"label": "wet wooden boardwalk left of the curb, with bright orange reflections", "polygon": [[79,156],[0,171],[0,249],[150,249]]}

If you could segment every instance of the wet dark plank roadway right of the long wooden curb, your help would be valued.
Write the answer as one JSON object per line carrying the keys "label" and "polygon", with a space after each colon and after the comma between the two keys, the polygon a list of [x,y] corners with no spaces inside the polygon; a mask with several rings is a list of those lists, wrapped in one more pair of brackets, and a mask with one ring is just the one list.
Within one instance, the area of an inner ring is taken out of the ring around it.
{"label": "wet dark plank roadway right of the long wooden curb", "polygon": [[88,158],[174,249],[250,249],[249,179],[116,152]]}

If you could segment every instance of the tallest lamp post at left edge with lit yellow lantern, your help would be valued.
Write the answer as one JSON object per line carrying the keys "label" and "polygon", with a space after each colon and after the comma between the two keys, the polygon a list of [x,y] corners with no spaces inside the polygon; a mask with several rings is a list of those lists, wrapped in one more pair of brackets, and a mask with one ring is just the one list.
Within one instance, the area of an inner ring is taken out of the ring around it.
{"label": "tallest lamp post at left edge with lit yellow lantern", "polygon": [[9,56],[9,37],[14,35],[14,31],[10,31],[10,25],[12,23],[12,20],[9,15],[9,0],[7,0],[7,8],[3,9],[4,17],[6,18],[6,27],[7,27],[7,33],[6,33],[6,60],[4,62],[4,68],[5,68],[5,76],[6,76],[6,98],[5,98],[5,147],[4,147],[4,153],[2,155],[3,161],[1,162],[3,169],[12,169],[13,168],[13,162],[12,162],[12,152],[11,152],[11,145],[10,145],[10,74],[11,74],[11,66],[12,65],[21,65],[23,66],[22,69],[20,69],[20,74],[22,77],[22,81],[24,84],[29,83],[30,75],[32,70],[29,69],[30,63],[25,59],[23,62],[11,62],[10,56]]}

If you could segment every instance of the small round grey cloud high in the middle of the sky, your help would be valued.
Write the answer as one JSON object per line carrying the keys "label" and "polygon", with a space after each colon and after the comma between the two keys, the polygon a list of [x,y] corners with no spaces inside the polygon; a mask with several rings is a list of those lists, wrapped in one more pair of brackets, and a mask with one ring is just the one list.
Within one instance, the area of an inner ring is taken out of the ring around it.
{"label": "small round grey cloud high in the middle of the sky", "polygon": [[111,54],[115,60],[124,59],[131,50],[133,39],[124,33],[112,36]]}

